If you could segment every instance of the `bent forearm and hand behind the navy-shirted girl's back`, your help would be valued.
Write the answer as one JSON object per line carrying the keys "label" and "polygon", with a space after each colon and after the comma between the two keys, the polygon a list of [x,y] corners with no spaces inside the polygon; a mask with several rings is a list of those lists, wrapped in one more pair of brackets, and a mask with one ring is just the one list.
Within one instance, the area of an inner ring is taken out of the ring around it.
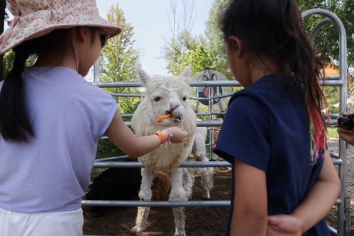
{"label": "bent forearm and hand behind the navy-shirted girl's back", "polygon": [[[321,172],[304,201],[290,215],[270,216],[267,235],[301,235],[326,217],[338,198],[341,182],[327,150],[323,158]],[[289,233],[295,230],[297,234]]]}

